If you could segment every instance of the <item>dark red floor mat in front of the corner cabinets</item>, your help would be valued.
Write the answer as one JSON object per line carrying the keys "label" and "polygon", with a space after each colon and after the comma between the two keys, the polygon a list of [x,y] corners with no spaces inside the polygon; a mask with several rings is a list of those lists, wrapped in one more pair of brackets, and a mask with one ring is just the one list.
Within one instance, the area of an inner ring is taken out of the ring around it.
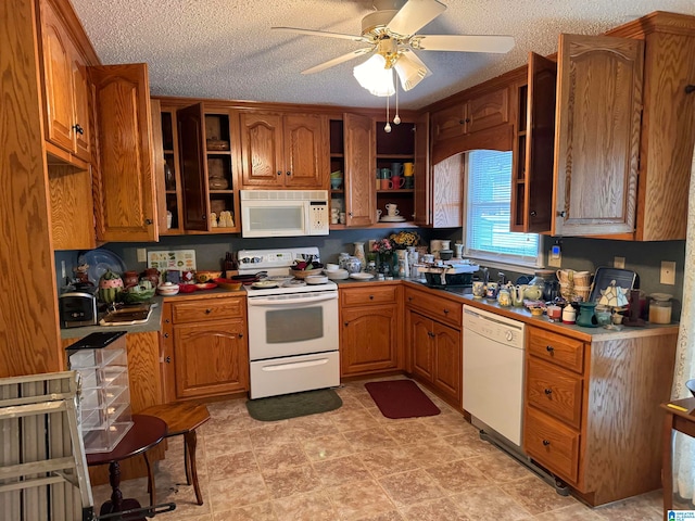
{"label": "dark red floor mat in front of the corner cabinets", "polygon": [[387,418],[416,418],[441,412],[412,380],[388,380],[365,383],[381,414]]}

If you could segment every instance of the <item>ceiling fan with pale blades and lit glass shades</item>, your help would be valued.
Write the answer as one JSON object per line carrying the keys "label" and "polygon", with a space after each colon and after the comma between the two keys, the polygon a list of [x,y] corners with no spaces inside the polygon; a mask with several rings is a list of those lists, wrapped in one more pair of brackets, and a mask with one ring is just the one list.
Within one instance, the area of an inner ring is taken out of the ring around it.
{"label": "ceiling fan with pale blades and lit glass shades", "polygon": [[437,0],[374,0],[374,7],[375,12],[362,18],[361,35],[296,27],[273,29],[366,43],[367,47],[302,71],[302,74],[319,73],[355,58],[372,54],[365,63],[354,67],[353,73],[359,85],[375,96],[393,94],[393,69],[406,91],[432,74],[415,50],[505,53],[514,47],[510,36],[417,35],[420,28],[446,11],[446,5]]}

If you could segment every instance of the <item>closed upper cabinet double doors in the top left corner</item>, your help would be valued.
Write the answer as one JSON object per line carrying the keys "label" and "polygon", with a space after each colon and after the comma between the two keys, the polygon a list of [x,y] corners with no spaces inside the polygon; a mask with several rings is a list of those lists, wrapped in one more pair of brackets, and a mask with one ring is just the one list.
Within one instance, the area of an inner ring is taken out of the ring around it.
{"label": "closed upper cabinet double doors in the top left corner", "polygon": [[91,126],[87,61],[54,3],[41,1],[40,13],[46,139],[89,163]]}

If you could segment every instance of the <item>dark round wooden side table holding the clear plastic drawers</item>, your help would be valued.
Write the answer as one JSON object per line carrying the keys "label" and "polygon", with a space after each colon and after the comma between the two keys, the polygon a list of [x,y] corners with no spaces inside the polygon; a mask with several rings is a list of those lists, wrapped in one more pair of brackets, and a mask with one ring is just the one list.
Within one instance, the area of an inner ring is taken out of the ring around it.
{"label": "dark round wooden side table holding the clear plastic drawers", "polygon": [[111,499],[101,506],[100,516],[140,508],[140,503],[137,499],[123,498],[121,493],[121,467],[118,465],[118,461],[138,454],[144,456],[144,462],[148,467],[148,482],[152,491],[151,498],[154,505],[152,469],[144,453],[157,445],[165,435],[166,423],[163,420],[153,416],[132,415],[132,427],[112,452],[87,455],[87,465],[90,467],[109,463],[109,483],[111,484],[112,493]]}

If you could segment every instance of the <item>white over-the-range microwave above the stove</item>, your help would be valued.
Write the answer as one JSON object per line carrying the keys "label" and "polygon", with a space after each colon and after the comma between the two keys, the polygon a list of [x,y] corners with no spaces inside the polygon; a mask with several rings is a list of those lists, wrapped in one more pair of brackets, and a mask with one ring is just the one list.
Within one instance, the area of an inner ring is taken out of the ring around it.
{"label": "white over-the-range microwave above the stove", "polygon": [[327,236],[327,190],[239,190],[241,237]]}

